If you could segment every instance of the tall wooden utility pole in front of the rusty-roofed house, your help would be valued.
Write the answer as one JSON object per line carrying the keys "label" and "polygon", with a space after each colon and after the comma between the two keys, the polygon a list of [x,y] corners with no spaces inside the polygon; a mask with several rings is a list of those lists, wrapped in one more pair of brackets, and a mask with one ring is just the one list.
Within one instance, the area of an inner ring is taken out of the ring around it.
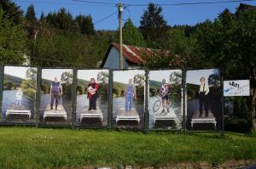
{"label": "tall wooden utility pole in front of the rusty-roofed house", "polygon": [[118,3],[117,4],[118,8],[119,8],[119,45],[120,45],[120,48],[119,48],[119,59],[120,59],[120,62],[119,62],[119,68],[120,69],[123,69],[124,66],[123,66],[123,32],[122,32],[122,13],[123,13],[123,5],[122,3]]}

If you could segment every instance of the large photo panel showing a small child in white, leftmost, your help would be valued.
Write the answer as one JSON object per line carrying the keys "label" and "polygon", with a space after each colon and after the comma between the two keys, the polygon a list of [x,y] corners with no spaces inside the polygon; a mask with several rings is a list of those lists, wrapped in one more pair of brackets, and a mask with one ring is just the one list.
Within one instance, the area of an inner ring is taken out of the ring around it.
{"label": "large photo panel showing a small child in white, leftmost", "polygon": [[38,69],[4,66],[2,122],[35,122]]}

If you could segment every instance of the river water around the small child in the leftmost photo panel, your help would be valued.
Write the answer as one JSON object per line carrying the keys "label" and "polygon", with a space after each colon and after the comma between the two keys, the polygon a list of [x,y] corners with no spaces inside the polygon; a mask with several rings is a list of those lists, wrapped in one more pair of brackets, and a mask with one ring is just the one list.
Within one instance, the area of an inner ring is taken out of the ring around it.
{"label": "river water around the small child in the leftmost photo panel", "polygon": [[3,90],[3,104],[2,104],[2,122],[14,123],[32,123],[35,122],[34,104],[35,100],[28,98],[25,94],[22,97],[22,110],[31,110],[31,118],[28,115],[8,115],[6,118],[6,110],[11,109],[11,105],[16,104],[16,90]]}

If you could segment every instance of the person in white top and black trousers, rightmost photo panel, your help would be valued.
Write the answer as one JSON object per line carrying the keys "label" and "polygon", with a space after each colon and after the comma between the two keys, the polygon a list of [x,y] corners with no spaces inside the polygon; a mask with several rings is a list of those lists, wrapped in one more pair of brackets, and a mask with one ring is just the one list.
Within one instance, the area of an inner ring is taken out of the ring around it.
{"label": "person in white top and black trousers, rightmost photo panel", "polygon": [[200,117],[202,115],[202,106],[204,105],[206,117],[208,117],[208,93],[210,92],[210,89],[206,83],[206,78],[201,77],[200,78],[200,88],[199,88],[199,110],[200,110]]}

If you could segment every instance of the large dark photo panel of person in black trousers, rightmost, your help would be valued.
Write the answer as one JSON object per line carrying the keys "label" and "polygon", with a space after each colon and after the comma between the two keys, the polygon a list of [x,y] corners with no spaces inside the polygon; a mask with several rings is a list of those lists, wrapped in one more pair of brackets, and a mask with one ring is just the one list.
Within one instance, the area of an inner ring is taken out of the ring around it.
{"label": "large dark photo panel of person in black trousers, rightmost", "polygon": [[187,70],[186,90],[187,129],[221,130],[223,113],[220,70]]}

